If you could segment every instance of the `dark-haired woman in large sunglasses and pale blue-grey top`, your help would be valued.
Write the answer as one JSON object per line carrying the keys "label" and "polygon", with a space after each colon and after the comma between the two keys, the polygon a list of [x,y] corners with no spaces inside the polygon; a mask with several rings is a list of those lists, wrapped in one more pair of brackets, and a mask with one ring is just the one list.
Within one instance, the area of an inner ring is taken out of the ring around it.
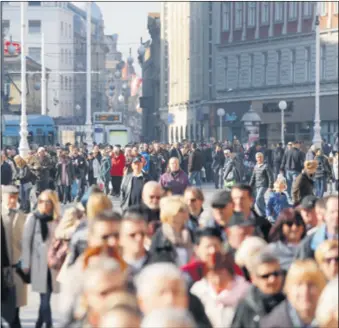
{"label": "dark-haired woman in large sunglasses and pale blue-grey top", "polygon": [[299,212],[284,209],[272,226],[269,248],[279,258],[282,270],[288,271],[296,256],[299,243],[306,235],[306,226]]}

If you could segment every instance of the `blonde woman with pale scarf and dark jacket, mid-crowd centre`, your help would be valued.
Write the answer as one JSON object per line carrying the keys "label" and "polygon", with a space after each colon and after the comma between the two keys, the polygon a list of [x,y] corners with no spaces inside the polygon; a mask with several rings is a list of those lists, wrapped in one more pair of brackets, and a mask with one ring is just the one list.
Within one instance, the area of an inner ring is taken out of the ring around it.
{"label": "blonde woman with pale scarf and dark jacket, mid-crowd centre", "polygon": [[188,208],[180,196],[160,200],[162,226],[152,238],[150,262],[172,262],[178,266],[188,263],[192,255],[191,234],[185,225]]}

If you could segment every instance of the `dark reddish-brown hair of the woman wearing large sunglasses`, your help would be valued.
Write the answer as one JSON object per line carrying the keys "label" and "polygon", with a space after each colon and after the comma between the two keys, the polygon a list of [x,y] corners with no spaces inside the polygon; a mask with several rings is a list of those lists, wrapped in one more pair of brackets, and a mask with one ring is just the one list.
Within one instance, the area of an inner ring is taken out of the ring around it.
{"label": "dark reddish-brown hair of the woman wearing large sunglasses", "polygon": [[285,241],[285,236],[283,234],[282,229],[283,225],[287,222],[299,223],[304,229],[303,234],[301,235],[301,239],[303,239],[306,236],[307,232],[306,225],[301,214],[293,208],[285,208],[280,212],[277,221],[274,223],[270,230],[268,236],[270,242],[276,242],[279,240],[282,242]]}

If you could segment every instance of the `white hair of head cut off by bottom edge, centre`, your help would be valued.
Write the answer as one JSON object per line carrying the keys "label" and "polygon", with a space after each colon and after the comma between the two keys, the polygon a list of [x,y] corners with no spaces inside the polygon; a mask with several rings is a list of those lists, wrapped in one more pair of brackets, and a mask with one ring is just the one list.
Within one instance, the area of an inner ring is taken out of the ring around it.
{"label": "white hair of head cut off by bottom edge, centre", "polygon": [[169,308],[152,311],[141,328],[196,328],[196,324],[187,310]]}

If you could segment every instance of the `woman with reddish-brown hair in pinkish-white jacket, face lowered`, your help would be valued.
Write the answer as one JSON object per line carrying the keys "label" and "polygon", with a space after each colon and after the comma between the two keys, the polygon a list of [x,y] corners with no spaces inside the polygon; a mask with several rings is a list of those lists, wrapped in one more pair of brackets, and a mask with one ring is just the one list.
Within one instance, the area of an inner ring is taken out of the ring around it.
{"label": "woman with reddish-brown hair in pinkish-white jacket, face lowered", "polygon": [[238,301],[249,287],[245,278],[235,275],[232,256],[217,253],[191,293],[200,299],[214,327],[230,327]]}

